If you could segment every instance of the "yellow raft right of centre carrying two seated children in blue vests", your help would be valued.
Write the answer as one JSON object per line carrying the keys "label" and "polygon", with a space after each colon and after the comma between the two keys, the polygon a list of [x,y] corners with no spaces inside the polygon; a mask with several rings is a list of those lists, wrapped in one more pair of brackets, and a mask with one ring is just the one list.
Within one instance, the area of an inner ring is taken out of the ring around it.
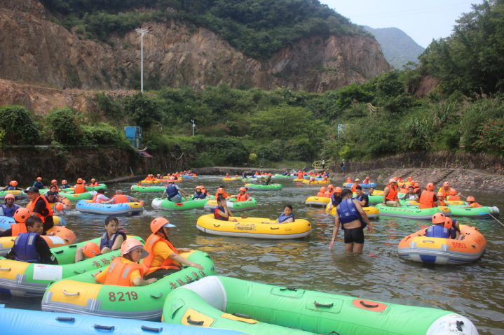
{"label": "yellow raft right of centre carrying two seated children in blue vests", "polygon": [[304,219],[278,223],[266,218],[234,218],[236,222],[217,220],[213,214],[203,215],[198,218],[196,228],[212,235],[269,239],[304,238],[311,234],[311,223]]}

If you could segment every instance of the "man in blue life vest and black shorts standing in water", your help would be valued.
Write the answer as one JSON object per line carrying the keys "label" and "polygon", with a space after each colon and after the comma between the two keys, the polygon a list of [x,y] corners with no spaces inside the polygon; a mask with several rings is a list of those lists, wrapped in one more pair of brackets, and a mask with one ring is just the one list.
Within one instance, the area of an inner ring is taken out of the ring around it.
{"label": "man in blue life vest and black shorts standing in water", "polygon": [[341,192],[341,204],[336,207],[336,215],[334,219],[334,229],[332,230],[332,240],[329,244],[329,250],[334,247],[336,236],[338,235],[339,225],[345,232],[345,251],[362,253],[364,248],[364,228],[371,233],[373,226],[367,218],[366,212],[360,206],[359,201],[352,199],[351,190],[343,190]]}

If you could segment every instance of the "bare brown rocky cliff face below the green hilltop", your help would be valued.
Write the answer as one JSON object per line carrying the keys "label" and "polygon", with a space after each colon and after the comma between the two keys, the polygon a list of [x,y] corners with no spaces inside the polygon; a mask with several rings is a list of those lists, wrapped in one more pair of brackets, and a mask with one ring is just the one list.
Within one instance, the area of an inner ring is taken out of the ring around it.
{"label": "bare brown rocky cliff face below the green hilltop", "polygon": [[[114,47],[81,39],[54,24],[36,0],[0,0],[0,78],[58,89],[117,90],[139,73],[139,36],[112,36]],[[245,57],[212,31],[180,22],[149,25],[145,78],[172,87],[290,87],[323,92],[390,70],[366,36],[305,38],[265,62]]]}

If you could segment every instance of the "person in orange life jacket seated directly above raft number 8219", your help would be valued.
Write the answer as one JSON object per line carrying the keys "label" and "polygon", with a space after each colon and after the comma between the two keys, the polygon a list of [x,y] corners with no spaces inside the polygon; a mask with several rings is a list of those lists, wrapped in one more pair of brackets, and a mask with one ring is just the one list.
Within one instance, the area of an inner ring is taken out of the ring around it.
{"label": "person in orange life jacket seated directly above raft number 8219", "polygon": [[116,286],[144,286],[157,281],[156,278],[144,280],[140,259],[148,257],[142,243],[136,238],[128,238],[121,245],[121,257],[116,257],[103,271],[93,274],[96,283]]}

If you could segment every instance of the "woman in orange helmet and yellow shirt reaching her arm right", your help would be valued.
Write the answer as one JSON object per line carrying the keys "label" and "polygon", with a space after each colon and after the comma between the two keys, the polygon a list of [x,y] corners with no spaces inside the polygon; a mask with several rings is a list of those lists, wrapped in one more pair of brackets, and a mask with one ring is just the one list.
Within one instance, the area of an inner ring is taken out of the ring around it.
{"label": "woman in orange helmet and yellow shirt reaching her arm right", "polygon": [[179,252],[189,252],[191,249],[175,248],[170,242],[170,228],[175,227],[165,218],[156,218],[151,222],[152,234],[145,242],[145,249],[149,256],[144,259],[144,278],[163,278],[164,276],[179,271],[180,264],[203,269],[200,264],[191,262],[179,255]]}

